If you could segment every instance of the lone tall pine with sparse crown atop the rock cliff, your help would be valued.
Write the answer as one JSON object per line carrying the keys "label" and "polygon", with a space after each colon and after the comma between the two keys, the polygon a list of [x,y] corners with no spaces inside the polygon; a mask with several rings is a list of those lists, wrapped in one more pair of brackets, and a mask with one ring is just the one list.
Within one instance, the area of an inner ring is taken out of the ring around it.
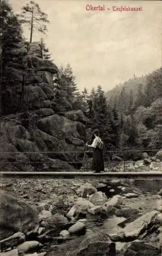
{"label": "lone tall pine with sparse crown atop the rock cliff", "polygon": [[30,29],[30,42],[32,42],[33,31],[36,29],[41,34],[45,34],[47,31],[47,23],[50,23],[47,14],[41,11],[38,4],[34,1],[30,1],[22,7],[22,12],[17,14],[21,24],[26,24]]}

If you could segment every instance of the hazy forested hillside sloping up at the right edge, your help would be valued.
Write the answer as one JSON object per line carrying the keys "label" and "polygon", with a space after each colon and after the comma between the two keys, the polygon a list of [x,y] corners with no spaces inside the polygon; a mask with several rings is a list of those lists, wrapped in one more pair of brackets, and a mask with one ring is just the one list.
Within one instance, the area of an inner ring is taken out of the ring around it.
{"label": "hazy forested hillside sloping up at the right edge", "polygon": [[108,97],[108,108],[115,109],[120,116],[120,147],[160,148],[162,68],[142,77],[134,77],[122,86],[117,86],[113,90],[113,95]]}

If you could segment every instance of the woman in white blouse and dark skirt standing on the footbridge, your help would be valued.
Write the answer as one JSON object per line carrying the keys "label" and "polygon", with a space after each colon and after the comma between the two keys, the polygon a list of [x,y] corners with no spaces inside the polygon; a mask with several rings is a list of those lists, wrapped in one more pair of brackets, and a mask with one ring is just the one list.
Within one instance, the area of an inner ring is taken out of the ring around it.
{"label": "woman in white blouse and dark skirt standing on the footbridge", "polygon": [[100,136],[100,132],[98,129],[94,130],[94,141],[91,145],[86,143],[86,146],[94,148],[94,154],[92,157],[92,166],[91,169],[95,170],[95,173],[100,173],[104,170],[104,160],[103,160],[103,151],[102,148],[99,147],[99,144],[102,142]]}

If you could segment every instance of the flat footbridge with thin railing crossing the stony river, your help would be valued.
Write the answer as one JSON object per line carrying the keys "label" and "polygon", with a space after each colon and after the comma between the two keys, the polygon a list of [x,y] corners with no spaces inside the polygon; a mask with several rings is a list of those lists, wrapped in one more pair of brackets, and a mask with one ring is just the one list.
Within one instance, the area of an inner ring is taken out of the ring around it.
{"label": "flat footbridge with thin railing crossing the stony river", "polygon": [[[82,154],[83,156],[86,156],[86,154],[89,154],[89,152],[0,152],[0,156],[1,156],[1,159],[0,159],[0,167],[1,167],[1,163],[2,164],[17,164],[17,163],[20,163],[20,164],[26,164],[26,162],[17,162],[17,161],[4,161],[3,160],[3,155],[4,154],[8,154],[10,156],[13,155],[13,154],[24,154],[26,156],[28,155],[33,155],[33,161],[31,161],[31,165],[34,167],[34,172],[1,172],[1,178],[23,178],[23,179],[26,179],[26,178],[37,178],[37,179],[45,179],[45,178],[53,178],[53,179],[160,179],[162,180],[162,169],[161,170],[158,170],[157,172],[153,172],[152,170],[150,170],[149,172],[128,172],[127,171],[127,168],[126,168],[126,164],[132,162],[132,161],[128,161],[127,160],[127,156],[128,154],[135,154],[135,153],[139,153],[141,152],[153,152],[153,155],[156,154],[156,152],[159,151],[159,150],[132,150],[132,151],[106,151],[104,152],[104,155],[106,156],[106,153],[107,154],[111,154],[113,155],[114,153],[119,155],[119,156],[123,156],[122,157],[122,161],[120,162],[115,162],[115,161],[110,161],[110,167],[108,167],[108,169],[110,170],[111,169],[111,164],[118,164],[118,163],[121,163],[123,164],[123,171],[122,172],[101,172],[101,173],[94,173],[94,172],[90,172],[89,170],[86,170],[85,172],[81,172],[80,169],[77,169],[76,168],[76,172],[69,172],[68,170],[67,171],[64,171],[60,169],[60,171],[56,171],[56,172],[53,172],[53,169],[47,169],[46,172],[38,172],[36,165],[37,164],[43,164],[43,163],[50,163],[50,162],[47,162],[47,161],[44,161],[44,162],[40,162],[40,161],[37,161],[37,154],[45,154],[45,155],[54,155],[54,154],[71,154],[74,156],[74,159],[73,161],[71,162],[68,162],[68,161],[56,161],[55,164],[57,163],[71,163],[72,165],[76,165],[77,164],[85,164],[87,163],[87,161],[83,160],[83,161],[78,161],[78,155],[79,154]],[[90,163],[90,162],[89,162]],[[2,169],[1,169],[2,170]],[[41,170],[41,169],[40,169]],[[52,172],[51,172],[52,170]],[[57,170],[57,168],[56,168]]]}

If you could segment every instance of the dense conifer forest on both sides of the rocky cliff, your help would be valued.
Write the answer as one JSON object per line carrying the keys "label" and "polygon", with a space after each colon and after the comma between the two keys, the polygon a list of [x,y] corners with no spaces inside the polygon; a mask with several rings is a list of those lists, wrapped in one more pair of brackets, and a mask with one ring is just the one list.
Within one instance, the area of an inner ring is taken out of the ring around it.
{"label": "dense conifer forest on both sides of the rocky cliff", "polygon": [[[32,2],[34,3],[34,2]],[[25,67],[26,53],[18,49],[29,42],[23,34],[23,19],[15,15],[12,6],[3,0],[2,16],[2,91],[3,115],[19,112],[20,109],[4,107],[6,88],[17,83],[13,67]],[[25,11],[29,11],[24,9]],[[43,14],[42,14],[43,15]],[[44,19],[45,20],[45,19]],[[47,22],[47,20],[46,20]],[[40,38],[41,38],[41,30]],[[51,60],[45,42],[40,39],[42,57]],[[51,60],[53,61],[53,60]],[[68,62],[68,60],[67,60]],[[7,68],[6,68],[7,67]],[[12,70],[10,69],[12,67]],[[135,71],[132,71],[135,72]],[[160,149],[162,144],[162,68],[142,76],[129,79],[110,92],[96,86],[87,93],[79,92],[73,69],[69,63],[59,67],[53,76],[55,100],[52,108],[60,115],[69,110],[82,110],[86,116],[87,140],[91,129],[98,128],[106,150]],[[109,85],[110,86],[110,85]]]}

